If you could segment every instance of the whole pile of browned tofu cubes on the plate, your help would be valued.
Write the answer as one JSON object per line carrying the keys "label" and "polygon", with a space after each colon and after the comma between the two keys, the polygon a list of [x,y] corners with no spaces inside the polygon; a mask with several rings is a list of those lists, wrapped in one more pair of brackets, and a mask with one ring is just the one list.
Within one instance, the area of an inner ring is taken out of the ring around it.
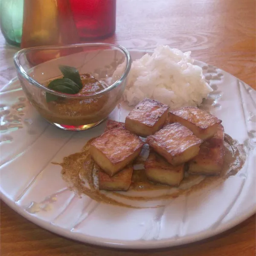
{"label": "whole pile of browned tofu cubes on the plate", "polygon": [[179,186],[185,168],[190,174],[218,175],[224,161],[221,120],[196,107],[169,112],[169,106],[151,99],[140,102],[125,124],[110,121],[92,141],[90,154],[99,168],[99,189],[128,190],[132,162],[143,140],[150,146],[145,161],[148,180]]}

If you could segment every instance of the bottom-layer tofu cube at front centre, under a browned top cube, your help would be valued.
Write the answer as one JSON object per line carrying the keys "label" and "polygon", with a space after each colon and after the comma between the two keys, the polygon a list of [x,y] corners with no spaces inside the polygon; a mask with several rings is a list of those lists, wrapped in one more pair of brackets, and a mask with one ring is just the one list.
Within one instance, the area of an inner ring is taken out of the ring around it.
{"label": "bottom-layer tofu cube at front centre, under a browned top cube", "polygon": [[173,166],[154,151],[150,151],[145,161],[148,180],[170,186],[179,186],[184,177],[184,164]]}

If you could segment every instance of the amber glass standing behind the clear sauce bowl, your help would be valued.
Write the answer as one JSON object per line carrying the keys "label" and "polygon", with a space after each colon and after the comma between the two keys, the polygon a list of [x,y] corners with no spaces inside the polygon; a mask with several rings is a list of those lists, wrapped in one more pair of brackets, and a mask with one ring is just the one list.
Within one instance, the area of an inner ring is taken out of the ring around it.
{"label": "amber glass standing behind the clear sauce bowl", "polygon": [[[21,48],[80,42],[70,0],[24,0],[23,9]],[[63,51],[57,49],[34,52],[27,58],[32,64],[40,64],[62,55]]]}

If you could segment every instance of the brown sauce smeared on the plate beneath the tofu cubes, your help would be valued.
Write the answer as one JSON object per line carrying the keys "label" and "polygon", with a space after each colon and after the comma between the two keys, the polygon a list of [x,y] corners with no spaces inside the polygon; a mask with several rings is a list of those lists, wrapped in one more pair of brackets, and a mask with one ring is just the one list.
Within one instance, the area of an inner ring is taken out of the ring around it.
{"label": "brown sauce smeared on the plate beneath the tofu cubes", "polygon": [[[93,139],[91,139],[93,140]],[[241,144],[225,134],[225,158],[222,172],[218,176],[189,175],[186,173],[184,179],[177,188],[167,185],[156,184],[149,181],[143,169],[143,163],[148,154],[148,145],[142,150],[140,156],[134,162],[134,172],[132,183],[128,192],[106,192],[100,191],[97,180],[97,167],[89,154],[89,140],[81,152],[64,157],[62,166],[62,176],[68,183],[70,189],[73,189],[78,195],[85,194],[95,201],[107,204],[114,204],[123,207],[145,208],[143,206],[134,206],[133,201],[152,201],[177,198],[184,193],[190,193],[211,184],[218,185],[232,175],[236,175],[245,162],[245,151]],[[139,167],[142,167],[141,169]],[[161,195],[147,196],[141,195],[141,192],[162,190]],[[130,195],[129,192],[135,192]],[[114,196],[114,198],[113,198]],[[124,202],[125,200],[125,202]],[[130,201],[130,203],[126,203]],[[154,207],[160,207],[155,205]]]}

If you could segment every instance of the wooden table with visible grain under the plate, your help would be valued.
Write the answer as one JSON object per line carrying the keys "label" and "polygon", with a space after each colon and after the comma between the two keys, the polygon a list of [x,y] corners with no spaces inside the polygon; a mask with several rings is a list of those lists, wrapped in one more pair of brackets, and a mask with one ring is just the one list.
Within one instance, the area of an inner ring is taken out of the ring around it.
{"label": "wooden table with visible grain under the plate", "polygon": [[[117,0],[116,34],[104,41],[129,49],[157,43],[183,51],[255,85],[255,0]],[[17,48],[0,35],[0,86],[15,76]],[[255,215],[197,243],[165,250],[120,251],[70,241],[30,223],[1,203],[2,256],[253,256]]]}

